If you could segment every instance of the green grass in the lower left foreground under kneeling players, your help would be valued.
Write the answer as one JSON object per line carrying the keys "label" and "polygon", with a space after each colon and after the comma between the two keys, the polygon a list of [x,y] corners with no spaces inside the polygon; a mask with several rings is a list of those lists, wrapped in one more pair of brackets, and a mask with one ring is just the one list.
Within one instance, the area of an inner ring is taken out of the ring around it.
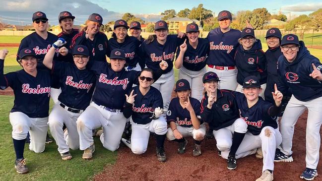
{"label": "green grass in the lower left foreground under kneeling players", "polygon": [[[1,181],[84,181],[91,180],[94,174],[105,166],[112,166],[117,152],[103,148],[98,138],[94,139],[96,150],[92,160],[83,160],[82,151],[71,150],[73,158],[64,161],[60,158],[57,145],[47,144],[43,153],[34,153],[25,145],[24,157],[30,173],[20,175],[15,172],[15,154],[11,138],[11,125],[8,119],[13,106],[13,96],[0,96],[0,180]],[[53,104],[51,103],[51,107]]]}

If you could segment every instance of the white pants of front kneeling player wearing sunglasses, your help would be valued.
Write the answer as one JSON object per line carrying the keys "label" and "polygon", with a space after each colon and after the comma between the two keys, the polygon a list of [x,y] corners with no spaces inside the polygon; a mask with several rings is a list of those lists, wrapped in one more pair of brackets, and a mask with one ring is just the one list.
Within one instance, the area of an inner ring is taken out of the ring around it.
{"label": "white pants of front kneeling player wearing sunglasses", "polygon": [[152,120],[147,124],[137,124],[131,119],[131,125],[131,150],[134,154],[138,155],[146,152],[150,132],[158,135],[167,133],[167,121],[163,117]]}

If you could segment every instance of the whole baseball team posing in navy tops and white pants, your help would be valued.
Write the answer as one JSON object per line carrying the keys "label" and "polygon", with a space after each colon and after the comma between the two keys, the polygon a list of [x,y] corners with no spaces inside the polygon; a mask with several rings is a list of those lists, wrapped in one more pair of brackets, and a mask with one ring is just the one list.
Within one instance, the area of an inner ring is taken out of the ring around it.
{"label": "whole baseball team posing in navy tops and white pants", "polygon": [[[115,151],[122,141],[134,154],[146,152],[153,134],[160,162],[167,160],[166,138],[183,154],[186,138],[193,137],[192,153],[199,156],[202,140],[213,136],[229,170],[237,168],[237,159],[256,154],[263,159],[256,181],[272,181],[274,162],[293,161],[294,126],[308,109],[300,178],[318,176],[322,64],[296,35],[269,29],[263,52],[251,24],[242,32],[230,28],[227,10],[219,12],[220,27],[207,38],[199,38],[194,22],[174,35],[160,20],[144,39],[139,22],[128,26],[120,19],[108,40],[100,32],[101,15],[91,14],[80,30],[73,29],[74,18],[61,12],[56,36],[47,31],[46,14],[35,12],[36,31],[21,40],[17,53],[21,70],[3,74],[8,51],[0,50],[0,88],[14,93],[9,121],[17,173],[28,173],[27,136],[29,149],[41,153],[49,127],[63,160],[72,158],[69,149],[92,159],[95,134],[104,148]],[[55,105],[49,114],[50,97]]]}

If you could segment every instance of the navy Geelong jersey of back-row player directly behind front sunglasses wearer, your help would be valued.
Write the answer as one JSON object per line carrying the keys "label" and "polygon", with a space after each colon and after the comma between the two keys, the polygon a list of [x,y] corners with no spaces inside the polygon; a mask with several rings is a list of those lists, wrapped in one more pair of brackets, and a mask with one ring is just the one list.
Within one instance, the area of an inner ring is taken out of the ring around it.
{"label": "navy Geelong jersey of back-row player directly behind front sunglasses wearer", "polygon": [[159,68],[159,63],[165,60],[168,63],[168,68],[164,73],[168,73],[173,68],[177,47],[183,44],[184,40],[184,38],[178,38],[178,35],[168,35],[164,45],[159,44],[156,38],[149,44],[144,41],[140,46],[140,56],[146,66],[153,71],[156,71]]}

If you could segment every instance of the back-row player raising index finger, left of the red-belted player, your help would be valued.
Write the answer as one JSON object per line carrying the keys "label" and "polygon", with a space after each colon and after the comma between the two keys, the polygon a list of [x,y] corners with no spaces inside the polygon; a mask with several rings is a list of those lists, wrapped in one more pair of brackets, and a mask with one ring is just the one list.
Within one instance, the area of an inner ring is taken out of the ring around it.
{"label": "back-row player raising index finger, left of the red-belted player", "polygon": [[202,76],[206,73],[206,61],[209,56],[209,42],[198,38],[199,28],[195,23],[186,27],[187,39],[178,48],[175,67],[179,69],[179,79],[186,79],[191,85],[191,97],[201,101],[203,94]]}

